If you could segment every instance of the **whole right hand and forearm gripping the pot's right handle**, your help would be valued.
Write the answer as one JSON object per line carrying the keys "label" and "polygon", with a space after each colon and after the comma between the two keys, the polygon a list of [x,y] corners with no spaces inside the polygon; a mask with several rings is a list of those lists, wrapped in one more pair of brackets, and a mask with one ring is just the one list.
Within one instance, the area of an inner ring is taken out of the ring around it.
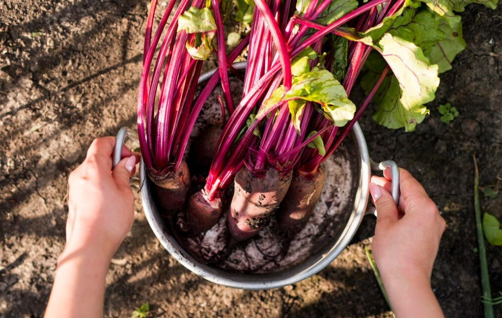
{"label": "whole right hand and forearm gripping the pot's right handle", "polygon": [[[390,179],[390,170],[384,171]],[[372,253],[396,316],[442,316],[430,288],[432,266],[446,222],[423,187],[400,169],[399,205],[391,182],[371,177],[371,197],[378,211]]]}

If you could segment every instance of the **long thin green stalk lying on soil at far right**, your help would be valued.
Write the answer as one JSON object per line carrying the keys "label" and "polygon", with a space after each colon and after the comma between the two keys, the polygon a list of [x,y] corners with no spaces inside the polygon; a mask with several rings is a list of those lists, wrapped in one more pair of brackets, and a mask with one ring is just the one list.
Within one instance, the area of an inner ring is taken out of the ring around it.
{"label": "long thin green stalk lying on soil at far right", "polygon": [[[491,299],[490,276],[488,275],[488,264],[486,262],[486,249],[484,245],[483,227],[481,224],[481,205],[479,203],[479,172],[476,163],[476,155],[472,156],[474,160],[474,213],[476,216],[476,229],[478,234],[479,245],[479,264],[481,267],[481,288],[482,297]],[[485,318],[493,318],[493,305],[484,302]]]}

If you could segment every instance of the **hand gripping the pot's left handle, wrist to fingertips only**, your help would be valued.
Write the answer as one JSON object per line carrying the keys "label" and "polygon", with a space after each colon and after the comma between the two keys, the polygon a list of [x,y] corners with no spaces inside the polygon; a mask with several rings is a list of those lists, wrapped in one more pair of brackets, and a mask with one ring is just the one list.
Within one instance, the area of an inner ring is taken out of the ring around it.
{"label": "hand gripping the pot's left handle, wrist to fingertips only", "polygon": [[70,174],[67,254],[92,250],[93,254],[111,259],[131,228],[134,195],[129,178],[135,173],[140,155],[123,146],[122,160],[111,171],[114,143],[114,137],[95,139],[82,165]]}

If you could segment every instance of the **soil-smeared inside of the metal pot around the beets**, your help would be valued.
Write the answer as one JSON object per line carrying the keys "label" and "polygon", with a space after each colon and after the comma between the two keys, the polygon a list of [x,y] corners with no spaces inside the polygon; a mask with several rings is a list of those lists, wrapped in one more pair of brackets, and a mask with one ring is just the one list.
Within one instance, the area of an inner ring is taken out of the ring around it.
{"label": "soil-smeared inside of the metal pot around the beets", "polygon": [[[242,83],[239,80],[230,81],[234,99],[241,96]],[[196,127],[191,136],[186,156],[189,169],[192,172],[200,167],[190,160],[190,146],[195,138],[214,125],[222,124],[221,108],[217,96],[221,88],[217,87],[209,97],[202,110]],[[237,105],[238,99],[235,100]],[[227,114],[228,117],[228,114]],[[354,208],[355,192],[359,179],[359,156],[350,138],[339,147],[324,164],[325,184],[321,199],[316,205],[312,216],[305,227],[295,237],[288,238],[277,226],[275,215],[260,233],[250,240],[241,243],[225,261],[216,262],[222,269],[246,273],[269,273],[294,266],[307,259],[313,253],[335,244],[342,234],[350,214]],[[198,191],[205,182],[206,174],[192,176],[191,193]],[[179,243],[187,252],[204,263],[215,263],[226,250],[228,232],[226,213],[233,194],[233,184],[228,187],[223,201],[225,211],[218,224],[209,231],[196,236],[186,237],[187,228],[185,211],[179,211],[166,217],[170,230],[178,238]],[[223,258],[223,259],[225,259]]]}

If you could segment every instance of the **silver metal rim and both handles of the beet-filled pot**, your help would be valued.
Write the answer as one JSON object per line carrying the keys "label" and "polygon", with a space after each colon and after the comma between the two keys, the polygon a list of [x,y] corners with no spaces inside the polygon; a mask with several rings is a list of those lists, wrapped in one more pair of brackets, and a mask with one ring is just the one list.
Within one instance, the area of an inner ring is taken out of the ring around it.
{"label": "silver metal rim and both handles of the beet-filled pot", "polygon": [[[244,69],[245,63],[235,63],[236,69]],[[215,70],[201,75],[199,84],[207,81]],[[113,165],[115,166],[120,161],[120,149],[124,138],[127,134],[127,128],[120,129],[117,134],[116,144],[113,156]],[[183,246],[176,240],[172,231],[166,226],[165,221],[159,214],[155,200],[153,197],[152,184],[149,181],[143,160],[140,163],[140,185],[141,199],[143,209],[153,232],[157,236],[162,246],[184,267],[191,270],[195,274],[216,284],[245,289],[245,290],[260,290],[278,288],[286,285],[297,283],[306,279],[328,266],[340,253],[347,247],[357,231],[362,217],[365,214],[375,214],[374,207],[368,207],[369,189],[371,169],[384,170],[391,169],[392,173],[392,195],[395,202],[399,199],[399,170],[398,166],[393,161],[384,161],[375,163],[371,160],[368,153],[368,148],[364,135],[358,123],[353,126],[350,138],[346,138],[345,142],[352,142],[355,152],[357,153],[358,180],[354,180],[354,185],[357,185],[357,190],[353,199],[353,208],[348,211],[345,219],[348,219],[345,227],[327,242],[326,246],[316,253],[310,255],[303,262],[292,267],[286,268],[273,273],[265,274],[244,274],[223,270],[221,268],[204,264],[194,258],[187,252]]]}

